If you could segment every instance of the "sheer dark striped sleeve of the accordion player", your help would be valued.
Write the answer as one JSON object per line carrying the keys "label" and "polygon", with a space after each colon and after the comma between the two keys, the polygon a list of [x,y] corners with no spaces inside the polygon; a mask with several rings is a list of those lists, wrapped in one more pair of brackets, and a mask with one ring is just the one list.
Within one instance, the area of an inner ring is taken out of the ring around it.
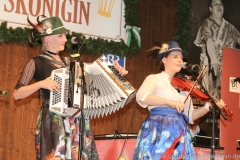
{"label": "sheer dark striped sleeve of the accordion player", "polygon": [[25,65],[22,75],[21,75],[20,79],[18,80],[18,83],[17,83],[15,89],[19,89],[22,86],[29,85],[34,77],[34,73],[35,73],[35,61],[33,59],[31,59]]}

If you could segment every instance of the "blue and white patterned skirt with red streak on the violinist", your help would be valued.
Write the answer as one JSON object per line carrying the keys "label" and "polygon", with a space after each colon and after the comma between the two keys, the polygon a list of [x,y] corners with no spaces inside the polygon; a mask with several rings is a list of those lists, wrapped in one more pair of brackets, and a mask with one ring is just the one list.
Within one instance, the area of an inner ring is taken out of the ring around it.
{"label": "blue and white patterned skirt with red streak on the violinist", "polygon": [[184,118],[177,114],[176,109],[157,109],[161,113],[162,110],[172,113],[163,115],[150,112],[138,133],[133,160],[195,160],[191,136]]}

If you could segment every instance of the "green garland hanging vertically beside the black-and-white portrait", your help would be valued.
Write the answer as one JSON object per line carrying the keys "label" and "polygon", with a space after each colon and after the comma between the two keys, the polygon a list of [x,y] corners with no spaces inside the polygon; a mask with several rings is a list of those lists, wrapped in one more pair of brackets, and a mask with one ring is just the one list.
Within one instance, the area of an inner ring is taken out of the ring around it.
{"label": "green garland hanging vertically beside the black-and-white portrait", "polygon": [[173,38],[179,43],[181,48],[185,51],[189,49],[189,41],[191,39],[191,13],[192,0],[176,0],[177,1],[177,28],[178,32]]}

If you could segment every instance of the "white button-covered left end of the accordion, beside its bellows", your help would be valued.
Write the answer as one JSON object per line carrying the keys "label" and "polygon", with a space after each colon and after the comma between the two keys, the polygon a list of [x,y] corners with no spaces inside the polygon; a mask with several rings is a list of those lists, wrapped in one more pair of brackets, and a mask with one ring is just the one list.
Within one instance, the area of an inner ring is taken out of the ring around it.
{"label": "white button-covered left end of the accordion, beside its bellows", "polygon": [[[71,68],[75,71],[74,73],[70,73],[66,68],[52,71],[52,80],[59,83],[60,91],[50,92],[49,110],[63,117],[72,117],[80,112],[81,91],[78,91],[78,87],[76,86],[81,82],[81,79],[72,78],[72,76],[78,76],[81,75],[81,73],[79,72],[80,70],[75,68],[75,66],[78,65],[74,65]],[[74,85],[76,86],[74,87]],[[73,88],[75,90],[73,90]],[[74,98],[71,92],[75,93]]]}

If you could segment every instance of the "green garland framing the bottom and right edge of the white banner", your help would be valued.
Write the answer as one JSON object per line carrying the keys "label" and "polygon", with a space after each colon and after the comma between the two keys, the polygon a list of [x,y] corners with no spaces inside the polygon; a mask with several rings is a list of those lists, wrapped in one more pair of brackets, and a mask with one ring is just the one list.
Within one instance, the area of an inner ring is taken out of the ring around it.
{"label": "green garland framing the bottom and right edge of the white banner", "polygon": [[[125,25],[139,26],[139,15],[136,8],[138,0],[124,0],[125,3]],[[30,34],[30,29],[17,27],[13,29],[12,27],[7,27],[7,22],[2,22],[0,25],[0,43],[24,43],[30,44],[28,36]],[[133,55],[139,53],[140,48],[137,44],[134,36],[131,36],[131,43],[128,47],[125,45],[124,41],[120,42],[108,41],[101,38],[88,38],[81,34],[73,32],[71,35],[67,35],[67,43],[65,50],[68,52],[77,52],[77,46],[72,45],[71,38],[80,37],[81,41],[85,40],[85,45],[81,48],[81,53],[87,53],[91,55],[102,55],[103,53],[115,54],[120,57],[132,57]],[[41,45],[41,41],[37,39],[31,46]]]}

